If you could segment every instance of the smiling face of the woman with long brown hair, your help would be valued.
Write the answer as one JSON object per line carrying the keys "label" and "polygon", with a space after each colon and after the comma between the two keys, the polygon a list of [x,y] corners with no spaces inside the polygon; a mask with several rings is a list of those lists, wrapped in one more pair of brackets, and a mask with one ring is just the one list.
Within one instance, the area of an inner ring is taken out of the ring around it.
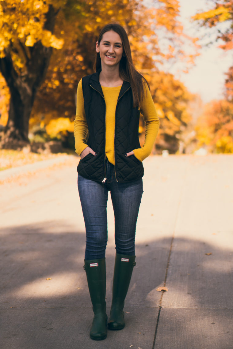
{"label": "smiling face of the woman with long brown hair", "polygon": [[119,34],[113,30],[105,32],[100,43],[96,42],[96,52],[100,53],[102,66],[119,65],[123,55],[122,40]]}

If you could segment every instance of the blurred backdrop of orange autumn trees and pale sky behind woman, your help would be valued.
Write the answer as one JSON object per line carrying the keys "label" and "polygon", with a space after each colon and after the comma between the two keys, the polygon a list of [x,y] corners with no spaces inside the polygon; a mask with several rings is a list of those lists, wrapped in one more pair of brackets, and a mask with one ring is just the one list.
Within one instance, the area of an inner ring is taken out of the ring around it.
{"label": "blurred backdrop of orange autumn trees and pale sky behind woman", "polygon": [[150,83],[153,154],[233,153],[233,0],[2,0],[1,156],[74,152],[78,82],[109,22]]}

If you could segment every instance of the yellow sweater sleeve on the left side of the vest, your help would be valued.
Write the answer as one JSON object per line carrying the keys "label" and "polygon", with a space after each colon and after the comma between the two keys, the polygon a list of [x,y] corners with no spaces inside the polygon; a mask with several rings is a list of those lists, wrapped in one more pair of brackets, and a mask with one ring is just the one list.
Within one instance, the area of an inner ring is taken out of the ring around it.
{"label": "yellow sweater sleeve on the left side of the vest", "polygon": [[88,127],[86,120],[86,113],[84,109],[84,99],[82,92],[82,79],[79,81],[77,89],[77,111],[74,120],[74,140],[75,140],[75,151],[78,155],[88,147],[87,142]]}

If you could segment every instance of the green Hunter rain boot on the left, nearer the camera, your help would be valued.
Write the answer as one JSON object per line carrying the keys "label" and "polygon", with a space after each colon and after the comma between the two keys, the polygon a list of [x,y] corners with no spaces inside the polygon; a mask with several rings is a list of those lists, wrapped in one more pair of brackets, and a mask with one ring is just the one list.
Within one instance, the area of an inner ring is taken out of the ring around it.
{"label": "green Hunter rain boot on the left, nearer the camera", "polygon": [[105,258],[84,260],[83,268],[87,274],[87,283],[95,314],[90,330],[90,337],[101,341],[107,337],[108,317],[106,314],[106,270]]}

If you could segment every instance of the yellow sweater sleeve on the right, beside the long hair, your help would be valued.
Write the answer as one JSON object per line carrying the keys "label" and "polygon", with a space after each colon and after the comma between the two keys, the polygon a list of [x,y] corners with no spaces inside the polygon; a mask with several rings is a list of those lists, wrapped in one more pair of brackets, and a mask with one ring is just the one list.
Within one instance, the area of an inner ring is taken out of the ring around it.
{"label": "yellow sweater sleeve on the right, beside the long hair", "polygon": [[151,154],[159,131],[159,118],[155,110],[151,92],[146,83],[144,84],[144,96],[141,101],[141,113],[145,121],[145,143],[141,148],[133,149],[133,153],[140,161],[143,161]]}

